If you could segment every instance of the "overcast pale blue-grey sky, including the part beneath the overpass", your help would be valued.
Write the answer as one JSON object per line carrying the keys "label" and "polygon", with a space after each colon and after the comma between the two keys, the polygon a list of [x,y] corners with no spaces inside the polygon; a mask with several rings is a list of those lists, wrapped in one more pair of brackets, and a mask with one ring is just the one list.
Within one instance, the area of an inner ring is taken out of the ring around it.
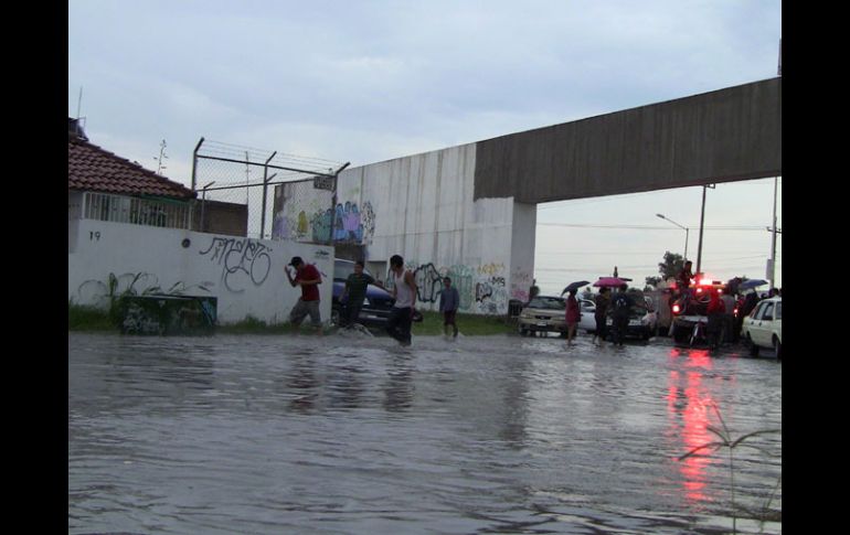
{"label": "overcast pale blue-grey sky, including the part beneath the overpass", "polygon": [[[780,38],[767,0],[70,0],[68,116],[152,170],[164,139],[188,185],[201,137],[358,167],[771,78]],[[539,205],[538,283],[642,286],[684,249],[656,213],[695,263],[701,201]],[[704,270],[764,278],[773,205],[774,179],[708,190]]]}

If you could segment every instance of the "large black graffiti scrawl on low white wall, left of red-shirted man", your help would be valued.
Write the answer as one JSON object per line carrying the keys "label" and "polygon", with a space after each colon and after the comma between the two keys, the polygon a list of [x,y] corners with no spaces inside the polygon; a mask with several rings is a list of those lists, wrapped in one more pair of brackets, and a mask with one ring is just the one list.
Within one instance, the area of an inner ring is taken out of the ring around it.
{"label": "large black graffiti scrawl on low white wall, left of red-shirted man", "polygon": [[214,237],[201,256],[222,267],[221,280],[224,287],[242,293],[251,282],[262,286],[272,270],[272,249],[256,239]]}

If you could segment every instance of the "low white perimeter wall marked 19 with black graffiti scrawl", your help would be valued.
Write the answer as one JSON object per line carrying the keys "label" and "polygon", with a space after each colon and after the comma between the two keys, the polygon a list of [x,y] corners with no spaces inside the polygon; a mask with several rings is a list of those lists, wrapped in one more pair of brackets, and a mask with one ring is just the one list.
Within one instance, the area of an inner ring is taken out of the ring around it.
{"label": "low white perimeter wall marked 19 with black graffiti scrawl", "polygon": [[[184,239],[189,239],[188,247],[182,245]],[[333,282],[331,247],[68,220],[68,299],[96,304],[105,295],[109,274],[119,277],[120,292],[141,272],[145,276],[134,286],[138,292],[153,286],[167,291],[181,283],[184,295],[217,297],[221,324],[247,315],[283,323],[301,295],[300,287],[293,288],[284,272],[293,256],[315,264],[322,274],[320,310],[327,322]]]}

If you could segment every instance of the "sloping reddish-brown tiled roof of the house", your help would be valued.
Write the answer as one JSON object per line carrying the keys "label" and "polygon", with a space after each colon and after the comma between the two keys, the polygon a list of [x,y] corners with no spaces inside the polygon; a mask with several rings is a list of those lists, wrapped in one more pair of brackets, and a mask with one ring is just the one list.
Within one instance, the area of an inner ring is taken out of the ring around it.
{"label": "sloping reddish-brown tiled roof of the house", "polygon": [[168,180],[138,163],[113,154],[68,132],[68,190],[120,195],[158,195],[174,199],[196,196],[189,188]]}

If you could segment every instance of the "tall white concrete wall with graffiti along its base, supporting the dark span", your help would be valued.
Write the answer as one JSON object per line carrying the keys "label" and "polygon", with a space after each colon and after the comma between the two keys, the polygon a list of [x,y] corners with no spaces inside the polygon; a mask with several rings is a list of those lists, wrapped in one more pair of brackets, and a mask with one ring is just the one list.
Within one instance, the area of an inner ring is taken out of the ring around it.
{"label": "tall white concrete wall with graffiti along its base, supporting the dark span", "polygon": [[475,154],[472,143],[346,170],[338,203],[361,207],[368,261],[399,254],[416,270],[422,308],[437,309],[448,275],[461,311],[503,314],[528,298],[536,206],[474,201]]}

